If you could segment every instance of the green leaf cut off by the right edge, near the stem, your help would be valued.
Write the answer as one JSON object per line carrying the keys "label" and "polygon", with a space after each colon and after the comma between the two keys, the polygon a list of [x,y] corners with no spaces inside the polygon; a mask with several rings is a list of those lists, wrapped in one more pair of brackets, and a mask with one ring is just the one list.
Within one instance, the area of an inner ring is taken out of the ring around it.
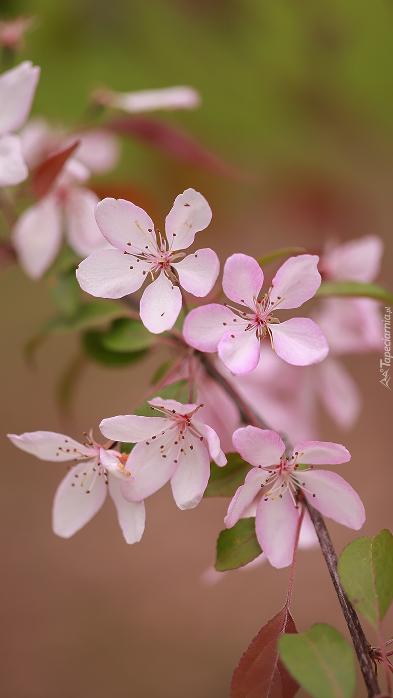
{"label": "green leaf cut off by the right edge, near the stem", "polygon": [[357,611],[378,628],[393,599],[393,535],[355,538],[337,567],[346,595]]}

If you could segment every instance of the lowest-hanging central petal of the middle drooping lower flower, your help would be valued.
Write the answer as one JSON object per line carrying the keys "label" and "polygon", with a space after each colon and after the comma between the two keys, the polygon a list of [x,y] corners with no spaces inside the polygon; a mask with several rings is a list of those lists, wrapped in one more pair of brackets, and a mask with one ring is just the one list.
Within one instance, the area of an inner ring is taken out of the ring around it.
{"label": "lowest-hanging central petal of the middle drooping lower flower", "polygon": [[[188,445],[193,446],[189,450]],[[186,456],[182,454],[172,475],[170,484],[179,509],[193,509],[202,499],[210,476],[210,459],[207,447],[188,432],[185,440]]]}

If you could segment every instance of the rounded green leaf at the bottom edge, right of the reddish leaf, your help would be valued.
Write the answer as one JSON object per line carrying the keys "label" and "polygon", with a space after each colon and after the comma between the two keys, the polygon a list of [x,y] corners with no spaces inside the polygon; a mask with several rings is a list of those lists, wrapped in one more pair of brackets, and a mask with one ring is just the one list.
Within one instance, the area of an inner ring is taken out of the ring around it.
{"label": "rounded green leaf at the bottom edge, right of the reddish leaf", "polygon": [[279,639],[281,661],[314,698],[351,698],[355,692],[355,655],[332,625],[316,623],[307,632]]}

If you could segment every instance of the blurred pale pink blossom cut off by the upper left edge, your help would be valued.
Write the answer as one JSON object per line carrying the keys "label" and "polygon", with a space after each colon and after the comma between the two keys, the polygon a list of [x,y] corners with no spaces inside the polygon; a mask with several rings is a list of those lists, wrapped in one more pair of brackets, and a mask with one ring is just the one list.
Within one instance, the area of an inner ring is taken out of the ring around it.
{"label": "blurred pale pink blossom cut off by the upper left edge", "polygon": [[0,75],[0,186],[20,184],[28,177],[20,137],[13,131],[29,116],[39,77],[40,68],[31,61]]}

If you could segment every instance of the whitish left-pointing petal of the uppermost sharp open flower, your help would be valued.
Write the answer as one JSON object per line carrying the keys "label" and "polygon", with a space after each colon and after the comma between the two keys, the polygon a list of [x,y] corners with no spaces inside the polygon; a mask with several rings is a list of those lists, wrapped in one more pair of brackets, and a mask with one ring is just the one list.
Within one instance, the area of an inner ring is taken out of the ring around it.
{"label": "whitish left-pointing petal of the uppermost sharp open flower", "polygon": [[149,265],[146,262],[137,264],[133,255],[103,250],[80,262],[76,278],[80,288],[92,296],[122,298],[142,286],[148,270]]}

